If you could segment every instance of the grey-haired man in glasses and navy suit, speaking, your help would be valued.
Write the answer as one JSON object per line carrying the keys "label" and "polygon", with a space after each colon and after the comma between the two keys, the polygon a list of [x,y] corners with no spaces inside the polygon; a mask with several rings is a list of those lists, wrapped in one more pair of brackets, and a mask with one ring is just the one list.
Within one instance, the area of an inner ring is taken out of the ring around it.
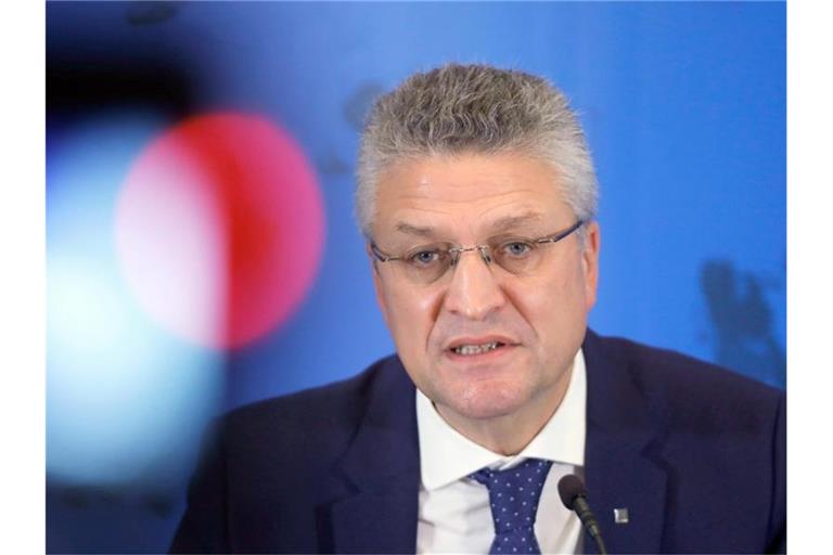
{"label": "grey-haired man in glasses and navy suit, speaking", "polygon": [[[397,357],[229,415],[175,552],[785,548],[783,395],[587,330],[600,230],[564,96],[448,65],[380,99],[357,215]],[[415,386],[415,387],[414,387]]]}

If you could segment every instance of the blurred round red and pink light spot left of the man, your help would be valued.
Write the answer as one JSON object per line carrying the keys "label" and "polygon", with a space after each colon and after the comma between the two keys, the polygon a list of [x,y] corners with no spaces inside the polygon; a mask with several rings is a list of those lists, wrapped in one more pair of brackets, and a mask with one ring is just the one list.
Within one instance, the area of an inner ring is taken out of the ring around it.
{"label": "blurred round red and pink light spot left of the man", "polygon": [[117,251],[140,304],[209,347],[239,347],[285,322],[312,284],[323,237],[303,151],[252,115],[203,115],[164,132],[116,206]]}

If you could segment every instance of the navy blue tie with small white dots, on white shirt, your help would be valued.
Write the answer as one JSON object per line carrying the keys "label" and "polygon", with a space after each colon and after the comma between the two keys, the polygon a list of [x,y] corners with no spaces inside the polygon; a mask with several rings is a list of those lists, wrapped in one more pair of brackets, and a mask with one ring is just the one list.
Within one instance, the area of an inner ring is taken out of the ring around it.
{"label": "navy blue tie with small white dots, on white shirt", "polygon": [[489,554],[541,553],[535,539],[535,514],[551,461],[527,459],[514,468],[484,468],[471,477],[489,489],[495,540]]}

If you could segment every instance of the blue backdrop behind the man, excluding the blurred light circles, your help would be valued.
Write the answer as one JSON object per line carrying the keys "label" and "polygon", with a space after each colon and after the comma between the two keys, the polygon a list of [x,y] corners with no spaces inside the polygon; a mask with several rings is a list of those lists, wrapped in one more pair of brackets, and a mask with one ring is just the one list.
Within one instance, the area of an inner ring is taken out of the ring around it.
{"label": "blue backdrop behind the man, excluding the blurred light circles", "polygon": [[[47,41],[48,264],[75,225],[62,207],[111,224],[118,179],[90,192],[64,177],[77,141],[102,149],[89,172],[106,159],[118,175],[162,126],[254,112],[287,129],[318,172],[324,255],[294,317],[229,352],[159,339],[216,371],[183,452],[212,414],[350,376],[393,350],[353,219],[358,131],[374,94],[449,61],[542,75],[578,111],[601,183],[597,332],[785,384],[784,3],[50,2]],[[125,111],[154,116],[119,133]],[[81,137],[90,121],[99,134]],[[48,383],[63,361],[48,352]],[[57,473],[53,429],[48,551],[165,551],[189,457],[141,479]]]}

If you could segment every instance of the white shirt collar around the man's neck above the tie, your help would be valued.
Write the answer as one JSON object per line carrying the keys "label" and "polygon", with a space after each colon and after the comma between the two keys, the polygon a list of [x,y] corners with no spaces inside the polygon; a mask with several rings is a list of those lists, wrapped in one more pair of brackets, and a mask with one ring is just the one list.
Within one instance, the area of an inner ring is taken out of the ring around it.
{"label": "white shirt collar around the man's neck above the tie", "polygon": [[431,491],[486,466],[509,468],[529,457],[584,466],[586,403],[585,356],[579,349],[559,409],[521,453],[505,456],[478,446],[449,426],[431,400],[418,389],[416,425],[423,487]]}

